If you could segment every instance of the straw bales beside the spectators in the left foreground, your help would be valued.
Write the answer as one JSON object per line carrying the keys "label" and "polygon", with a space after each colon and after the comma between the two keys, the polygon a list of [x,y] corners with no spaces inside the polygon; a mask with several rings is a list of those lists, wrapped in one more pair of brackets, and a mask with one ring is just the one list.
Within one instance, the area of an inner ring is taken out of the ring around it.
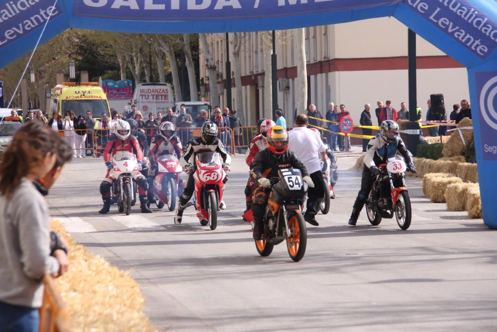
{"label": "straw bales beside the spectators in the left foreground", "polygon": [[59,221],[51,229],[69,243],[69,271],[56,279],[71,331],[157,331],[143,313],[145,299],[127,272],[89,254]]}

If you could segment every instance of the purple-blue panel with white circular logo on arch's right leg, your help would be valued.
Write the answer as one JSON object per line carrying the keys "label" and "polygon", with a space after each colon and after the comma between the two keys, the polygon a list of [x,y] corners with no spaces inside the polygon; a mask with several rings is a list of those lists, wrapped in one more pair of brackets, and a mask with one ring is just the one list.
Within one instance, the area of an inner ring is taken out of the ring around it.
{"label": "purple-blue panel with white circular logo on arch's right leg", "polygon": [[497,71],[475,73],[480,139],[485,160],[497,160]]}

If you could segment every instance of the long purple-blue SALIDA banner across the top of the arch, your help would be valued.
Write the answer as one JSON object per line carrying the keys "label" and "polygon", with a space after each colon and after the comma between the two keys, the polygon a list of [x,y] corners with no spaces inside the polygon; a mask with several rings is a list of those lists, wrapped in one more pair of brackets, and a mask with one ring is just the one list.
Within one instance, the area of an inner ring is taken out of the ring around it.
{"label": "long purple-blue SALIDA banner across the top of the arch", "polygon": [[145,21],[285,17],[400,3],[401,0],[78,0],[74,16]]}

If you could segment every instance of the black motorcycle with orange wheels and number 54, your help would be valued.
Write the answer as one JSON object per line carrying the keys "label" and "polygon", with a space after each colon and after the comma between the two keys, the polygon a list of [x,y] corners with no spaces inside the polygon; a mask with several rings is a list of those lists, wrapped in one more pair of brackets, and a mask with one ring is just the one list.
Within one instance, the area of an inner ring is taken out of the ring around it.
{"label": "black motorcycle with orange wheels and number 54", "polygon": [[286,240],[290,258],[298,262],[307,246],[306,222],[300,209],[308,185],[300,170],[294,168],[280,169],[278,177],[269,180],[271,192],[264,213],[264,231],[262,239],[255,240],[255,248],[261,256],[269,256],[276,244]]}

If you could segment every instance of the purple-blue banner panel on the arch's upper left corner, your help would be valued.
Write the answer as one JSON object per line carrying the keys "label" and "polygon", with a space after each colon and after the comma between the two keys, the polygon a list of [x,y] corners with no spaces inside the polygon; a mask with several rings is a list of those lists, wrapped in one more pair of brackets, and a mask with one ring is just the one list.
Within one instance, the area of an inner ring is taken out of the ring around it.
{"label": "purple-blue banner panel on the arch's upper left corner", "polygon": [[0,49],[42,28],[46,21],[61,15],[53,0],[12,0],[0,3]]}

